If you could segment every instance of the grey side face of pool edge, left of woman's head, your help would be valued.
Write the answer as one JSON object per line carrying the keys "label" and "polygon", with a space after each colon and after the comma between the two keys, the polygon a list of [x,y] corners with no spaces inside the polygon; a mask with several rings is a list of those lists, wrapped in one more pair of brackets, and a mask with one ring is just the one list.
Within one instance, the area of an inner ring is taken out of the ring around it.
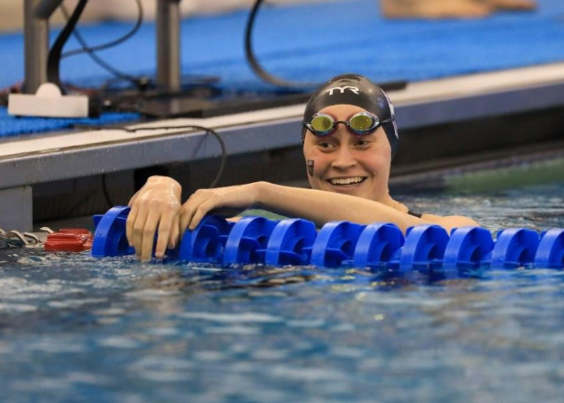
{"label": "grey side face of pool edge, left of woman's head", "polygon": [[[218,129],[228,155],[299,143],[299,121],[277,121]],[[84,177],[169,162],[201,160],[221,155],[214,136],[177,133],[124,143],[0,160],[0,188]]]}

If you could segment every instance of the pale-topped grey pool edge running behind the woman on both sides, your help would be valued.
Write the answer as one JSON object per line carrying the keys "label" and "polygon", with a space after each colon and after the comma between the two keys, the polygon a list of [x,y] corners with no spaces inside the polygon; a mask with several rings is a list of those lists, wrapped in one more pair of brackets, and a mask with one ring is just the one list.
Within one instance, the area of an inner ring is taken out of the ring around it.
{"label": "pale-topped grey pool edge running behind the woman on both sides", "polygon": [[[557,109],[564,106],[564,63],[414,82],[389,96],[396,106],[400,134],[410,128]],[[213,118],[177,118],[143,127],[213,128],[223,138],[227,154],[237,155],[299,145],[303,110],[300,104]],[[464,143],[460,141],[461,155]],[[138,133],[104,129],[2,140],[2,226],[31,231],[33,184],[219,155],[221,148],[213,136],[187,129]]]}

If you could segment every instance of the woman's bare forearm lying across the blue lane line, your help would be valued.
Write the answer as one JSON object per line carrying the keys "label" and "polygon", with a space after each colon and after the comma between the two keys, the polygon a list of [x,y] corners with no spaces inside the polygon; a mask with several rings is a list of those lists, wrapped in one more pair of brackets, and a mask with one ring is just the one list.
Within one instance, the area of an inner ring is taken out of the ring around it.
{"label": "woman's bare forearm lying across the blue lane line", "polygon": [[256,182],[258,206],[277,214],[302,217],[321,227],[329,221],[355,223],[391,222],[406,231],[409,226],[426,221],[402,213],[377,201],[323,190],[280,186]]}

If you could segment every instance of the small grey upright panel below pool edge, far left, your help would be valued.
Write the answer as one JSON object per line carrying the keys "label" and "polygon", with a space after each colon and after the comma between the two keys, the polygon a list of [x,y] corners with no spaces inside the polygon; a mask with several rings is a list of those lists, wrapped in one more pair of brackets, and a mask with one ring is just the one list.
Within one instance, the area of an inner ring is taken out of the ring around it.
{"label": "small grey upright panel below pool edge, far left", "polygon": [[33,230],[31,186],[0,189],[0,228]]}

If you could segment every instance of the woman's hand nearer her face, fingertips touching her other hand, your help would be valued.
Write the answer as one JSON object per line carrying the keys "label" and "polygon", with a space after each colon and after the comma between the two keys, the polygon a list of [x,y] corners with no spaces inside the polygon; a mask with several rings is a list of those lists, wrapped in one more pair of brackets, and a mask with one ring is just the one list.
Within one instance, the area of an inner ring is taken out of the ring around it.
{"label": "woman's hand nearer her face, fingertips touching her other hand", "polygon": [[194,230],[206,214],[235,216],[258,206],[260,182],[237,186],[199,189],[189,197],[180,213],[180,233]]}

